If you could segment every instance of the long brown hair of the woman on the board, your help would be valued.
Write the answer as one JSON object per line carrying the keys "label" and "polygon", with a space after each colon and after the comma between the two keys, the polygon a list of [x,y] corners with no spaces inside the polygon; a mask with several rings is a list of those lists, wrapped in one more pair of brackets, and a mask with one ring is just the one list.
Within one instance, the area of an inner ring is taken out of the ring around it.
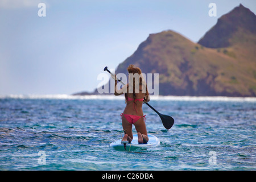
{"label": "long brown hair of the woman on the board", "polygon": [[[127,71],[128,71],[128,73],[133,73],[133,74],[138,73],[138,75],[140,76],[139,77],[139,86],[143,86],[143,88],[144,88],[144,86],[146,86],[146,93],[145,93],[144,97],[148,98],[149,93],[148,93],[148,90],[147,90],[147,84],[146,84],[146,82],[142,81],[143,76],[141,75],[142,74],[141,69],[139,67],[135,67],[133,64],[130,64],[129,67],[127,68]],[[131,83],[131,80],[129,80],[129,81]],[[130,89],[128,89],[128,90],[130,90]],[[141,92],[142,90],[139,89],[139,91]],[[129,93],[129,91],[127,93]],[[127,102],[127,93],[125,93],[125,102]],[[135,95],[135,78],[133,77],[133,99],[134,99],[134,102],[135,102],[135,98],[136,98],[136,95]]]}

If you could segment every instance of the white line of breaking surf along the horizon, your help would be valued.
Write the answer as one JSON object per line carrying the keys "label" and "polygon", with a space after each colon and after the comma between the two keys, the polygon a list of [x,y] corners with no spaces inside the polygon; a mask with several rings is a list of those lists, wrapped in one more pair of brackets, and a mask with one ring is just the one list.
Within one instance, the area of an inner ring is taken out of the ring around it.
{"label": "white line of breaking surf along the horizon", "polygon": [[[60,100],[123,100],[122,96],[86,95],[72,96],[68,94],[10,94],[0,96],[0,99],[60,99]],[[234,101],[234,102],[256,102],[256,97],[224,97],[224,96],[151,96],[152,101]]]}

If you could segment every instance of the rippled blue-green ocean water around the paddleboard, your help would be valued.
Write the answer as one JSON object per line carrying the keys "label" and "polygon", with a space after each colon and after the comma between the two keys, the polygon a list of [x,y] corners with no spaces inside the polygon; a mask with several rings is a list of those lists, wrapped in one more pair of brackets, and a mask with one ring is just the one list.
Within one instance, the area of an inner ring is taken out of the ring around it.
{"label": "rippled blue-green ocean water around the paddleboard", "polygon": [[0,170],[256,170],[256,98],[150,104],[175,124],[164,129],[143,105],[160,146],[127,152],[109,146],[123,137],[122,96],[1,96]]}

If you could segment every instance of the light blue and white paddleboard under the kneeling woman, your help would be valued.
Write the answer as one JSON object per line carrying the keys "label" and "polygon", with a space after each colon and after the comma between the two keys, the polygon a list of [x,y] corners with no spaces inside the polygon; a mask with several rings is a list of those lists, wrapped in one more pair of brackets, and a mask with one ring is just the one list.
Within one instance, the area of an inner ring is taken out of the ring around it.
{"label": "light blue and white paddleboard under the kneeling woman", "polygon": [[[159,146],[160,140],[157,137],[155,137],[154,135],[147,135],[147,136],[148,136],[148,142],[146,144],[139,144],[138,143],[138,135],[137,134],[133,135],[133,140],[131,141],[131,143],[126,144],[126,150],[134,151],[134,150],[137,150],[140,148],[143,149],[143,148]],[[110,143],[110,147],[115,148],[115,150],[125,151],[125,147],[121,143],[121,140],[122,139],[119,139],[119,140],[116,140],[116,141]]]}

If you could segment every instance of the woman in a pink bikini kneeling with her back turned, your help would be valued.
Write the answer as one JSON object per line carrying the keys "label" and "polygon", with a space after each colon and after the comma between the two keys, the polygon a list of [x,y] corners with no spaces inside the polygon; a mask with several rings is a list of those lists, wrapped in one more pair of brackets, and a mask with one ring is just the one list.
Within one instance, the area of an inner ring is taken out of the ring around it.
{"label": "woman in a pink bikini kneeling with her back turned", "polygon": [[[131,140],[133,140],[132,127],[134,125],[138,133],[138,143],[147,143],[147,129],[144,121],[144,119],[146,119],[146,115],[143,115],[142,110],[143,102],[150,101],[147,85],[141,75],[141,69],[131,64],[127,68],[127,71],[129,72],[129,84],[126,84],[121,89],[117,90],[117,78],[115,76],[114,88],[115,96],[119,96],[125,93],[126,107],[121,114],[122,126],[123,130],[125,131],[125,136],[122,140],[128,140],[129,143],[131,143]],[[136,80],[134,74],[137,74],[139,79]]]}

